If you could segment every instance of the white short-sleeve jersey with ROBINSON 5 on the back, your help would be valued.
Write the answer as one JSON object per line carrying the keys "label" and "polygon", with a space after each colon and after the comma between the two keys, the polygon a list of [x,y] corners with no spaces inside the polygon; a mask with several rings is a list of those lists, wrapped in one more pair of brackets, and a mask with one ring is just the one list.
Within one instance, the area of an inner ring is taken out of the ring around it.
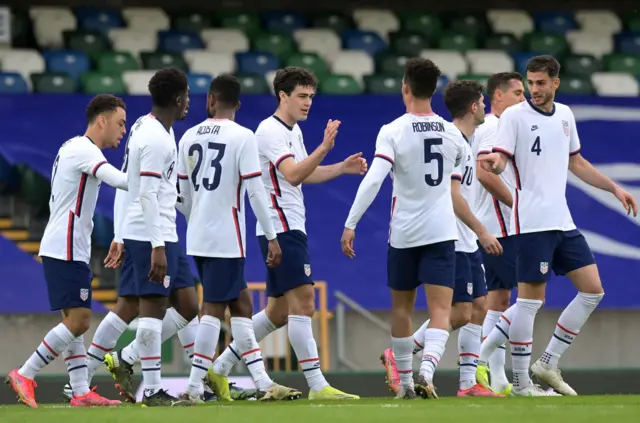
{"label": "white short-sleeve jersey with ROBINSON 5 on the back", "polygon": [[451,175],[465,145],[460,130],[436,114],[407,113],[380,129],[375,156],[393,165],[392,247],[458,239]]}

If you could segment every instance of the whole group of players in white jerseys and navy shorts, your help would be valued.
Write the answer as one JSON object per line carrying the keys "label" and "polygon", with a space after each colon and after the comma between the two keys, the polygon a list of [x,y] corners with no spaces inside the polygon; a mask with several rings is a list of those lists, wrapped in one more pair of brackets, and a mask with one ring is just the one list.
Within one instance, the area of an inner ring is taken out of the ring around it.
{"label": "whole group of players in white jerseys and navy shorts", "polygon": [[[216,77],[207,96],[208,118],[187,130],[177,147],[172,125],[188,112],[187,77],[175,68],[158,71],[149,82],[151,113],[131,128],[120,171],[101,150],[116,148],[123,138],[126,106],[115,96],[96,96],[87,107],[85,134],[65,142],[55,158],[51,215],[40,249],[51,309],[61,310],[62,322],[9,373],[7,384],[22,403],[37,407],[35,376],[62,354],[71,406],[117,405],[90,388],[94,373],[104,363],[125,400],[135,402],[133,366],[140,362],[143,405],[186,406],[203,402],[205,391],[230,401],[227,377],[243,361],[256,399],[297,399],[300,391],[269,377],[259,347],[287,325],[309,399],[359,399],[329,385],[320,369],[301,185],[366,174],[341,239],[344,254],[355,258],[356,225],[390,174],[392,348],[382,361],[396,398],[437,398],[433,376],[457,329],[459,396],[576,395],[563,381],[558,360],[604,291],[567,207],[567,171],[613,193],[634,216],[637,205],[580,155],[573,113],[554,102],[559,70],[553,57],[531,59],[526,101],[520,74],[493,75],[487,116],[482,85],[451,82],[444,91],[451,123],[431,107],[438,67],[428,59],[408,60],[402,84],[406,113],[380,130],[370,170],[362,153],[321,165],[335,144],[339,120],[329,120],[322,142],[307,153],[298,122],[308,117],[317,82],[302,68],[277,72],[277,110],[255,133],[235,122],[239,82],[231,75]],[[102,182],[117,188],[115,236],[105,266],[122,272],[117,304],[86,349],[92,218]],[[246,192],[267,266],[267,306],[253,316],[244,278]],[[176,209],[188,222],[186,254],[178,246]],[[193,257],[202,282],[201,309],[186,255]],[[531,367],[555,391],[533,384],[529,374],[533,323],[550,270],[567,275],[578,289]],[[430,320],[411,335],[420,285]],[[516,287],[518,299],[509,307]],[[214,360],[227,307],[233,342]],[[114,351],[136,317],[135,340]],[[192,363],[178,397],[161,389],[161,344],[175,334]],[[507,342],[513,385],[504,370]],[[412,357],[421,351],[414,377]]]}

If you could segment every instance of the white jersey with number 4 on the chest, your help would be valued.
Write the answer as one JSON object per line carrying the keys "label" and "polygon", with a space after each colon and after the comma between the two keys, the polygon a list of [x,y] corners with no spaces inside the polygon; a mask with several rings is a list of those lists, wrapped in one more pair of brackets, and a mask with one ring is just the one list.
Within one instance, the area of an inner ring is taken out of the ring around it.
{"label": "white jersey with number 4 on the chest", "polygon": [[512,160],[515,173],[510,234],[576,229],[567,205],[569,156],[580,152],[573,112],[555,103],[546,113],[529,101],[500,116],[493,151]]}

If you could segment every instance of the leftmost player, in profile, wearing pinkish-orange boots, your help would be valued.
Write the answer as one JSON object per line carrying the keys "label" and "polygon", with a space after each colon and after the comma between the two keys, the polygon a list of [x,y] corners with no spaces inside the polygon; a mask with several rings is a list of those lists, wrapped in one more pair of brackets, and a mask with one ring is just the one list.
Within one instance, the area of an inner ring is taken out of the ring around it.
{"label": "leftmost player, in profile, wearing pinkish-orange boots", "polygon": [[40,257],[51,310],[62,311],[62,323],[44,337],[20,369],[9,373],[7,384],[20,402],[37,408],[34,378],[60,354],[71,380],[72,407],[120,404],[90,390],[84,333],[91,322],[91,231],[100,183],[126,190],[127,177],[107,163],[102,149],[116,148],[126,132],[122,99],[94,97],[86,111],[83,136],[65,142],[53,162],[49,222],[42,237]]}

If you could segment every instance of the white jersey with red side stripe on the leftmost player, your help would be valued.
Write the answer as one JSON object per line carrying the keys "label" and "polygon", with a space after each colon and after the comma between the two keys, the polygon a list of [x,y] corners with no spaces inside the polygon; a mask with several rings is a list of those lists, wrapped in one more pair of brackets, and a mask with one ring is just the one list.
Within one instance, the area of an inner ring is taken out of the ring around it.
{"label": "white jersey with red side stripe on the leftmost player", "polygon": [[62,144],[51,172],[50,216],[40,256],[89,263],[93,213],[101,184],[95,175],[105,163],[102,151],[88,137]]}

